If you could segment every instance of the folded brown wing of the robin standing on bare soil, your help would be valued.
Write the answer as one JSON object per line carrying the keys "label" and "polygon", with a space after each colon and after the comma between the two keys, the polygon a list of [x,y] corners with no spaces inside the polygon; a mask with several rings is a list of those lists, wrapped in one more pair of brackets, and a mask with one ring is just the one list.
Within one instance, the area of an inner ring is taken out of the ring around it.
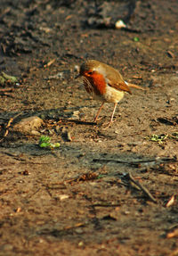
{"label": "folded brown wing of the robin standing on bare soil", "polygon": [[[116,88],[118,91],[125,91],[130,95],[132,95],[130,88],[125,84],[125,80],[122,78],[121,74],[110,66],[108,69],[107,66],[108,65],[105,66],[105,70],[106,70],[106,78],[108,79],[109,86]],[[109,72],[107,70],[109,70]]]}

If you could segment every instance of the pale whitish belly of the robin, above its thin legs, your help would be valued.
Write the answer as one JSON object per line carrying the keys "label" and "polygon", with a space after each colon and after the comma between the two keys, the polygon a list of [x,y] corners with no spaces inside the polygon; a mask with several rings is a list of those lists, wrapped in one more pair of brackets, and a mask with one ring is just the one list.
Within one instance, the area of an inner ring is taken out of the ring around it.
{"label": "pale whitish belly of the robin, above its thin legs", "polygon": [[115,89],[113,87],[109,87],[107,85],[104,99],[108,103],[118,103],[120,100],[122,100],[124,95],[125,95],[125,92],[118,91],[117,89]]}

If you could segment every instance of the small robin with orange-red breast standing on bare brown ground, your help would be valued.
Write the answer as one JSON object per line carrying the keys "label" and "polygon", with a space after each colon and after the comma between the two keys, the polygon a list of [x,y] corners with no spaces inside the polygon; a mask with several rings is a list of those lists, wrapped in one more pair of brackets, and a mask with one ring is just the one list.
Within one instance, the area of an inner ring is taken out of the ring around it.
{"label": "small robin with orange-red breast standing on bare brown ground", "polygon": [[142,87],[125,82],[118,70],[96,60],[85,61],[80,66],[79,74],[76,78],[79,77],[83,77],[86,92],[92,95],[93,99],[101,101],[101,107],[97,111],[94,122],[98,120],[104,103],[114,103],[114,109],[106,128],[109,128],[113,123],[117,103],[122,100],[125,93],[132,95],[130,87],[144,90]]}

